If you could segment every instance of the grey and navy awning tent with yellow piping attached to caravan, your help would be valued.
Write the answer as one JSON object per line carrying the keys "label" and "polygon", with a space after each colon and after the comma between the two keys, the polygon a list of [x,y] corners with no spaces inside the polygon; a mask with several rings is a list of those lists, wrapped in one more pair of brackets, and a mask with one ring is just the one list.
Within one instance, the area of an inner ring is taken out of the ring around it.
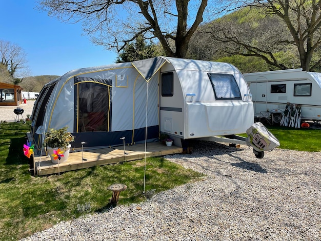
{"label": "grey and navy awning tent with yellow piping attached to caravan", "polygon": [[157,71],[165,62],[158,57],[77,69],[48,83],[32,114],[36,144],[41,146],[49,128],[65,126],[76,136],[75,147],[82,141],[87,146],[119,145],[119,137],[129,143],[141,142],[146,125],[147,138],[158,138]]}

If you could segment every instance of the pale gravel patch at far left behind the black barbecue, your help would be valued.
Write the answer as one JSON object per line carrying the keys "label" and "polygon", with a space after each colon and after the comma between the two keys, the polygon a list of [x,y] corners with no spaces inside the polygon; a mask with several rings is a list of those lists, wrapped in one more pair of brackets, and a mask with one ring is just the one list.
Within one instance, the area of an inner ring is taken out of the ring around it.
{"label": "pale gravel patch at far left behind the black barbecue", "polygon": [[[34,102],[35,101],[27,100],[27,104],[20,104],[19,106],[0,106],[0,121],[14,122],[17,115],[13,110],[18,107],[24,109],[24,113],[22,115],[24,118],[27,118],[27,114],[32,114]],[[19,115],[18,118],[21,119],[21,115]]]}

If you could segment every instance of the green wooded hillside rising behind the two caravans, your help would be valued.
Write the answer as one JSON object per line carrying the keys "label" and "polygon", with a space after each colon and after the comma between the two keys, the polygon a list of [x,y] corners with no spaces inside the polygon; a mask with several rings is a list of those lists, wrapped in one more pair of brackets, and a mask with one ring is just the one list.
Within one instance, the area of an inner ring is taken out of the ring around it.
{"label": "green wooded hillside rising behind the two caravans", "polygon": [[244,73],[291,68],[318,72],[321,2],[250,2],[199,27],[188,56],[229,62]]}

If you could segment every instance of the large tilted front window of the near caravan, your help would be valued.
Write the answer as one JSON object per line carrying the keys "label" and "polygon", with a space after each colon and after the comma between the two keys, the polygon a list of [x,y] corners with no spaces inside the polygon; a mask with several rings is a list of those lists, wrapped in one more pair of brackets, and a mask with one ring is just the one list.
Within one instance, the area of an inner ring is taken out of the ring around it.
{"label": "large tilted front window of the near caravan", "polygon": [[216,99],[242,99],[232,74],[208,73]]}

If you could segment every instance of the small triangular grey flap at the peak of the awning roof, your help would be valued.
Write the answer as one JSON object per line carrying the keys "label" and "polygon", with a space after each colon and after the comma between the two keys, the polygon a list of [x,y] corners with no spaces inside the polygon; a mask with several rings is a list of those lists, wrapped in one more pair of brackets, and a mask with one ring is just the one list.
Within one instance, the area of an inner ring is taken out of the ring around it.
{"label": "small triangular grey flap at the peak of the awning roof", "polygon": [[167,60],[163,57],[155,57],[133,61],[131,64],[148,82],[166,62]]}

